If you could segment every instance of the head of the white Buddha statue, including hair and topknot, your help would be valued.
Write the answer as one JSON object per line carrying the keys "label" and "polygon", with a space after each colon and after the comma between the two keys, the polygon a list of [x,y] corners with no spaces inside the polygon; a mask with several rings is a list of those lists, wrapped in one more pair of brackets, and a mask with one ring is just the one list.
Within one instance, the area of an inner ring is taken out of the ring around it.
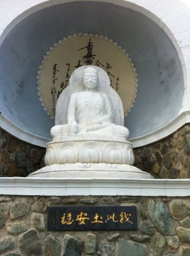
{"label": "head of the white Buddha statue, including hair and topknot", "polygon": [[84,85],[84,90],[86,91],[96,91],[98,85],[98,72],[93,67],[85,68],[82,74],[82,81]]}

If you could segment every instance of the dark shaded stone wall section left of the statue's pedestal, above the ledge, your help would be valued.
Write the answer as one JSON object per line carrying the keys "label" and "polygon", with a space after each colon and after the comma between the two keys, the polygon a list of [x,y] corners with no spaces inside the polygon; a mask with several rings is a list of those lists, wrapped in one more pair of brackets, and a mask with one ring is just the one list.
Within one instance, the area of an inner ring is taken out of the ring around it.
{"label": "dark shaded stone wall section left of the statue's pedestal, above the ledge", "polygon": [[0,177],[26,177],[43,166],[45,148],[31,145],[0,130]]}

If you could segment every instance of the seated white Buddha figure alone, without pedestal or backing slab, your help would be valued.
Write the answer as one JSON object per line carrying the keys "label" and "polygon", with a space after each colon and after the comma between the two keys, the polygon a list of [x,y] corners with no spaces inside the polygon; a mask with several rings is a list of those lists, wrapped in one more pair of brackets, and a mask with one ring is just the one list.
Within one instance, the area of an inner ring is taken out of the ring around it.
{"label": "seated white Buddha figure alone, without pedestal or backing slab", "polygon": [[68,105],[68,124],[52,127],[53,140],[60,140],[62,136],[74,134],[101,134],[128,138],[129,130],[113,123],[112,103],[108,95],[99,90],[101,86],[99,79],[103,77],[98,77],[98,70],[94,67],[89,66],[84,69],[83,90],[71,94]]}

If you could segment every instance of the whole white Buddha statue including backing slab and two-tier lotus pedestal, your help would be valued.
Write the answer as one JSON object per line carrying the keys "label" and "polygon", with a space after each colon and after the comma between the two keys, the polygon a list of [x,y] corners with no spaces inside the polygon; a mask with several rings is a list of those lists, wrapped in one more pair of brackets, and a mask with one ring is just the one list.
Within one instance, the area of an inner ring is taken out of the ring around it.
{"label": "whole white Buddha statue including backing slab and two-tier lotus pedestal", "polygon": [[133,166],[121,99],[99,67],[83,66],[71,74],[69,86],[57,100],[51,135],[45,154],[47,166],[31,177],[151,177]]}

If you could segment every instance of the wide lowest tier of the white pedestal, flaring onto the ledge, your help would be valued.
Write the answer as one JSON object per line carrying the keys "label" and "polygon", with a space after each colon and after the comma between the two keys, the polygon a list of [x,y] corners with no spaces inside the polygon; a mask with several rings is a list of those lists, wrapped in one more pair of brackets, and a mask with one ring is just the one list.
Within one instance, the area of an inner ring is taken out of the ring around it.
{"label": "wide lowest tier of the white pedestal, flaring onto the ledge", "polygon": [[154,179],[149,173],[129,164],[75,163],[52,164],[33,172],[29,177],[63,179]]}

